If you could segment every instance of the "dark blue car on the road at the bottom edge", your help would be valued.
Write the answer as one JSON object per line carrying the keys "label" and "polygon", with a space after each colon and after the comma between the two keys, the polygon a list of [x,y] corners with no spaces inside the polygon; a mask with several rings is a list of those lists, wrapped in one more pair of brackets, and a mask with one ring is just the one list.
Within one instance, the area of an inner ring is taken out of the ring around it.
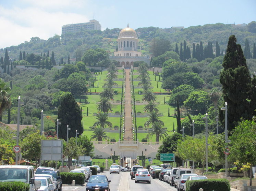
{"label": "dark blue car on the road at the bottom edge", "polygon": [[106,175],[93,175],[89,178],[89,180],[86,180],[86,182],[86,191],[95,191],[96,188],[98,188],[98,190],[100,191],[110,190],[111,180],[108,180],[108,177]]}

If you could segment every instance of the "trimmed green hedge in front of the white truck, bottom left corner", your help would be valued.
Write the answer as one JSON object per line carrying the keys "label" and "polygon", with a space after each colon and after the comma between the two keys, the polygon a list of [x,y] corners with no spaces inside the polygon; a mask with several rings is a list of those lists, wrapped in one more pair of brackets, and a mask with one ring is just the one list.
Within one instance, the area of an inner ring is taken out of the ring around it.
{"label": "trimmed green hedge in front of the white truck, bottom left corner", "polygon": [[29,184],[24,182],[0,182],[1,191],[29,191]]}

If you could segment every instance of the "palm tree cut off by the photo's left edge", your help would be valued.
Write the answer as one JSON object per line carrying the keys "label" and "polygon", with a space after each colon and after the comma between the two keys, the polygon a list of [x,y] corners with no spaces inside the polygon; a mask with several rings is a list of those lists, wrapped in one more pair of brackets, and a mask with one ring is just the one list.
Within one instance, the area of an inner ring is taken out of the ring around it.
{"label": "palm tree cut off by the photo's left edge", "polygon": [[0,115],[2,115],[5,109],[10,108],[11,99],[8,97],[9,87],[6,87],[6,83],[0,80]]}

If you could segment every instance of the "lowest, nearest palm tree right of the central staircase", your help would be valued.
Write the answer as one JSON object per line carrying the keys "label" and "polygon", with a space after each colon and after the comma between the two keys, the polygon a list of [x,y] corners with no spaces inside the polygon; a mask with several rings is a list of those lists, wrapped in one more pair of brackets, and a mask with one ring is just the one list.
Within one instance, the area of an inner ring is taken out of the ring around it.
{"label": "lowest, nearest palm tree right of the central staircase", "polygon": [[167,128],[164,128],[161,123],[155,122],[152,124],[152,127],[149,130],[147,130],[148,134],[146,138],[149,138],[149,137],[151,138],[153,137],[153,135],[156,135],[156,142],[159,142],[159,138],[161,140],[161,138],[168,136],[166,131],[167,131]]}

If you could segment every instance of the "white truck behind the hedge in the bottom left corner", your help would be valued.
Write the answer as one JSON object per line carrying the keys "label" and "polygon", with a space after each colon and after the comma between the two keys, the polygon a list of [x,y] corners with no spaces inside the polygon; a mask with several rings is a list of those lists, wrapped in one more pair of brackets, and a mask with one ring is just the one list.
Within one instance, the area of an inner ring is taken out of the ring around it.
{"label": "white truck behind the hedge in the bottom left corner", "polygon": [[29,191],[37,191],[41,186],[41,181],[35,181],[33,166],[0,165],[0,182],[14,181],[20,181],[29,184]]}

